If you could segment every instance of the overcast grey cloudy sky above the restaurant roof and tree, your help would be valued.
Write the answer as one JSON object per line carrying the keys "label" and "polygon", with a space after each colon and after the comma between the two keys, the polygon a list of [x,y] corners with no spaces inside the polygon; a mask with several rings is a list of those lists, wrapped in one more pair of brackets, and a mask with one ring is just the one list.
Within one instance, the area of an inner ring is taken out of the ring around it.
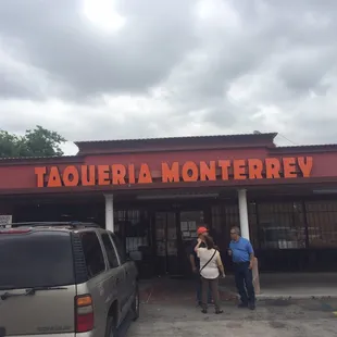
{"label": "overcast grey cloudy sky above the restaurant roof and tree", "polygon": [[336,32],[336,0],[0,0],[0,128],[337,142]]}

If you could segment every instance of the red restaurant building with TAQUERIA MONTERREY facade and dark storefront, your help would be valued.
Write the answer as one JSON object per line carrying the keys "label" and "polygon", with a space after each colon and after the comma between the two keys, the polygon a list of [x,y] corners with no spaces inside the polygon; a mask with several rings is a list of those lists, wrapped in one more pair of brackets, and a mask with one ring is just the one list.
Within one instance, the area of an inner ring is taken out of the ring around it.
{"label": "red restaurant building with TAQUERIA MONTERREY facade and dark storefront", "polygon": [[76,155],[2,159],[0,219],[86,221],[115,232],[143,276],[189,273],[207,225],[226,264],[240,225],[260,272],[337,270],[337,145],[277,134],[79,141]]}

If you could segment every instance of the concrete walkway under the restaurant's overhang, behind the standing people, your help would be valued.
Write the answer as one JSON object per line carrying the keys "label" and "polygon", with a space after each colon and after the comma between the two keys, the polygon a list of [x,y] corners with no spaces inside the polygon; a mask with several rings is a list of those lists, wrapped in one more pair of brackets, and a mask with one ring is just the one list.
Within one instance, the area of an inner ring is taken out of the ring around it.
{"label": "concrete walkway under the restaurant's overhang, behind the standing people", "polygon": [[[337,273],[260,274],[261,292],[258,300],[265,299],[312,299],[337,298]],[[141,300],[194,302],[195,284],[188,279],[154,278],[141,282]],[[221,280],[223,301],[236,301],[234,276]]]}

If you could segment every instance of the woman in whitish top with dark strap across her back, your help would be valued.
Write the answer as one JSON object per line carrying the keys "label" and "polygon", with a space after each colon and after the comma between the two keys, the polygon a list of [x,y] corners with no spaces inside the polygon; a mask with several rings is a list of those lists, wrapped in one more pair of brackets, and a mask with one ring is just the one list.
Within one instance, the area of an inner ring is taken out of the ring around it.
{"label": "woman in whitish top with dark strap across her back", "polygon": [[[205,248],[200,247],[202,242],[204,242]],[[198,245],[195,247],[195,251],[200,259],[200,275],[202,282],[201,312],[208,312],[208,290],[211,288],[215,305],[215,313],[223,313],[220,305],[219,277],[225,277],[225,271],[220,252],[210,236],[203,236],[202,238],[199,238]]]}

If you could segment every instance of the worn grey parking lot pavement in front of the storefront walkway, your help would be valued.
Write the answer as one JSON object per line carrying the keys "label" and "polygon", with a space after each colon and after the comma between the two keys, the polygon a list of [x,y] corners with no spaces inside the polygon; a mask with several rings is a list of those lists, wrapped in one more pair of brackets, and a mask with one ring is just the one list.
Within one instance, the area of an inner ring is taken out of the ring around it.
{"label": "worn grey parking lot pavement in front of the storefront walkway", "polygon": [[204,315],[189,303],[143,303],[141,317],[127,337],[329,337],[337,336],[337,300],[265,300],[255,311],[224,303],[224,313],[214,308]]}

